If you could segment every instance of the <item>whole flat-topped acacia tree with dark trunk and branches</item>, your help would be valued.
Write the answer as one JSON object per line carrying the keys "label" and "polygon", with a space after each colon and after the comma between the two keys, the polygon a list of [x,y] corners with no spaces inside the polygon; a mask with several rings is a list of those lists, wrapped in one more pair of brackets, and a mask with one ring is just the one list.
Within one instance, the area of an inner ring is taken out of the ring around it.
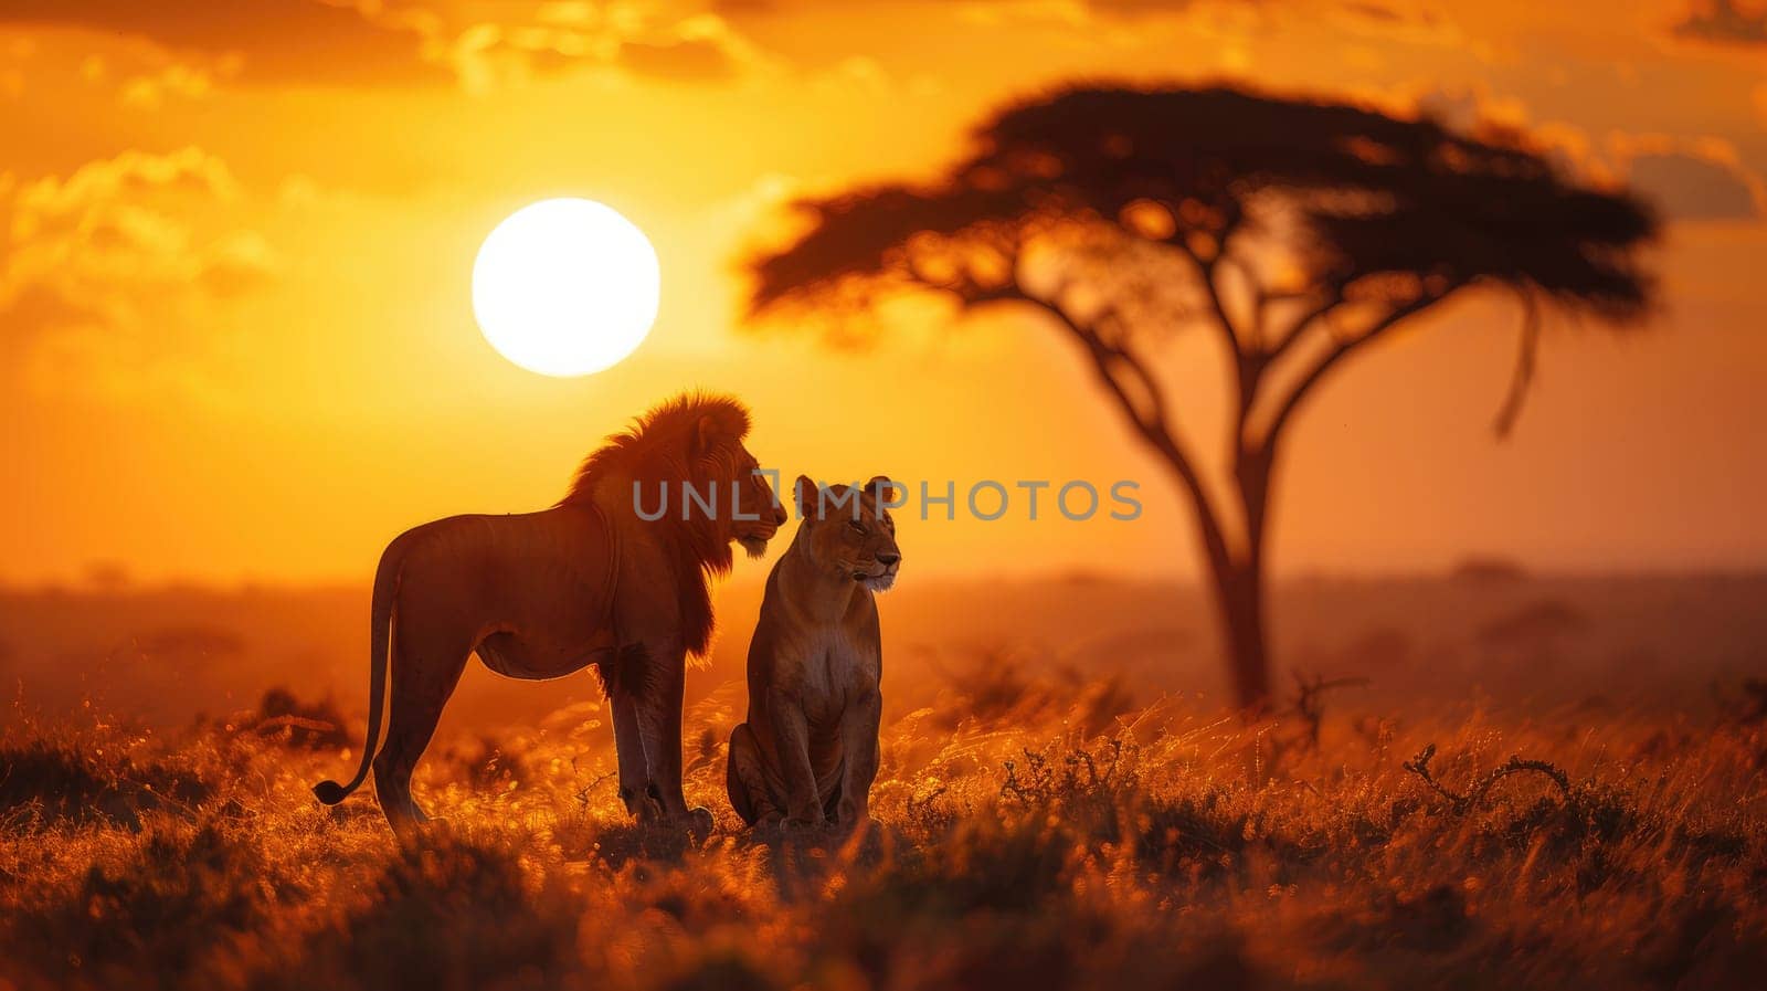
{"label": "whole flat-topped acacia tree with dark trunk and branches", "polygon": [[[809,307],[843,334],[882,295],[1018,304],[1080,344],[1194,511],[1239,701],[1270,692],[1270,488],[1295,412],[1373,341],[1468,290],[1520,300],[1505,433],[1543,311],[1640,320],[1656,219],[1523,134],[1235,88],[1071,87],[993,115],[928,182],[797,203],[808,230],[753,260],[751,316]],[[1207,473],[1157,350],[1210,334],[1230,438]]]}

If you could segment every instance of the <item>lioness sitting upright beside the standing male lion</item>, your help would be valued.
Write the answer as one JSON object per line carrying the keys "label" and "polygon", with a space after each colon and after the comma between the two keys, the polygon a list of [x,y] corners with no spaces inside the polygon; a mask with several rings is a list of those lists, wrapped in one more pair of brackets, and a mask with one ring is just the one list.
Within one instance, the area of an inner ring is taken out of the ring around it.
{"label": "lioness sitting upright beside the standing male lion", "polygon": [[873,592],[901,549],[878,475],[862,491],[797,479],[797,537],[767,576],[749,643],[749,719],[730,733],[730,804],[749,825],[850,830],[878,770],[884,645]]}

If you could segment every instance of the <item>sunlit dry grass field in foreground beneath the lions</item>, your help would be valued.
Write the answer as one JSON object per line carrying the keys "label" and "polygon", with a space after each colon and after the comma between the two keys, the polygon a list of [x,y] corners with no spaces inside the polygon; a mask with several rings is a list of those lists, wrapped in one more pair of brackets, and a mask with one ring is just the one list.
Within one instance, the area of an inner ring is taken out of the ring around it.
{"label": "sunlit dry grass field in foreground beneath the lions", "polygon": [[445,821],[408,851],[368,790],[313,802],[352,740],[286,694],[175,733],[18,712],[0,987],[1758,987],[1760,700],[1346,696],[1244,724],[970,677],[885,726],[878,827],[845,843],[737,828],[716,696],[689,714],[716,834],[629,823],[580,703],[433,751]]}

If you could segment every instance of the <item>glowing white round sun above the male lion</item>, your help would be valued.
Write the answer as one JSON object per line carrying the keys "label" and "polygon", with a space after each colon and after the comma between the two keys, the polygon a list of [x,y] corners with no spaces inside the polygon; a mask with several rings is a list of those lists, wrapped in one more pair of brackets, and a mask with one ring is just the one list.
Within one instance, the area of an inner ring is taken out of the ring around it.
{"label": "glowing white round sun above the male lion", "polygon": [[484,238],[472,313],[497,353],[542,374],[620,362],[650,332],[661,272],[650,240],[592,200],[541,200]]}

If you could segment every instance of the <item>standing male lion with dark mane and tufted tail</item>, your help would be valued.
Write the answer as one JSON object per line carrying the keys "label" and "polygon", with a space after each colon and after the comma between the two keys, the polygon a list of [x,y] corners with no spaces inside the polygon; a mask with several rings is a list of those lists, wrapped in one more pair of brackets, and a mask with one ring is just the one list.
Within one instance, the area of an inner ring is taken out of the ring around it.
{"label": "standing male lion with dark mane and tufted tail", "polygon": [[[680,790],[686,655],[703,655],[710,641],[707,581],[730,571],[730,544],[760,556],[786,519],[742,445],[747,431],[749,413],[735,399],[680,396],[608,438],[558,505],[454,516],[392,541],[375,572],[362,765],[348,784],[315,786],[320,802],[345,800],[373,767],[382,813],[410,837],[426,821],[412,800],[412,770],[477,652],[512,678],[558,678],[595,664],[627,811],[709,828],[710,813],[689,809]],[[691,503],[684,484],[710,493],[714,507]],[[657,500],[679,505],[645,519]],[[391,714],[375,756],[389,650]]]}

